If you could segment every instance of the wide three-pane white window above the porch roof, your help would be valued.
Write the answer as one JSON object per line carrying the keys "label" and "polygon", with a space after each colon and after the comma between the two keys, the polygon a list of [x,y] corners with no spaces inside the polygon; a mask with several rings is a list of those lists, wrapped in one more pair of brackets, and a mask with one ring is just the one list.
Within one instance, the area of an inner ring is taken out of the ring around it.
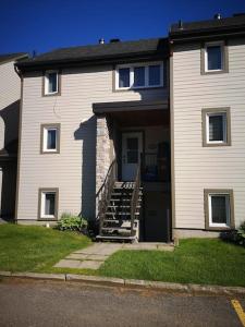
{"label": "wide three-pane white window above the porch roof", "polygon": [[162,87],[163,63],[120,65],[115,70],[115,89]]}

